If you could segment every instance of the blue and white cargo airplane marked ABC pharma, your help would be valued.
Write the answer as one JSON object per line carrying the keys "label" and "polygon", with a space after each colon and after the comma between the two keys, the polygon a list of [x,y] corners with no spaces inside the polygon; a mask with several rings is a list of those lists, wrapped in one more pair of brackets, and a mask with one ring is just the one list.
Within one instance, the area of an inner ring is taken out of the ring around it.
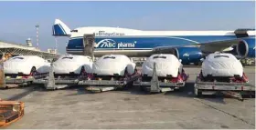
{"label": "blue and white cargo airplane marked ABC pharma", "polygon": [[122,27],[85,26],[70,29],[59,19],[52,35],[69,36],[68,54],[82,55],[83,35],[95,35],[94,55],[120,54],[144,57],[174,54],[183,64],[200,63],[204,55],[228,52],[237,57],[255,57],[255,29],[233,31],[143,31]]}

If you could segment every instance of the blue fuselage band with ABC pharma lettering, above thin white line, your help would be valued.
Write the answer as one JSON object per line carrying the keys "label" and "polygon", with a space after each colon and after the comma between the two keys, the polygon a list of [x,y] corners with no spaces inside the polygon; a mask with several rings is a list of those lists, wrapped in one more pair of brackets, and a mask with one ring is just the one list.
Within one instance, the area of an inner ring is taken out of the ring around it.
{"label": "blue fuselage band with ABC pharma lettering, above thin white line", "polygon": [[[157,36],[157,37],[95,37],[98,47],[104,49],[152,49],[157,46],[167,45],[191,45],[197,43],[229,40],[236,38],[235,35],[191,35],[191,36]],[[82,37],[69,39],[67,49],[82,49]]]}

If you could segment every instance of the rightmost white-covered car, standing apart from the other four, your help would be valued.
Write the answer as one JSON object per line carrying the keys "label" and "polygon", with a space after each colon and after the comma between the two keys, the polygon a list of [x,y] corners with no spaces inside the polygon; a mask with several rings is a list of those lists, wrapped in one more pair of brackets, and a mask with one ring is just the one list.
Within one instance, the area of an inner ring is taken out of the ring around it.
{"label": "rightmost white-covered car, standing apart from the other four", "polygon": [[204,77],[219,76],[219,77],[233,77],[242,76],[243,67],[240,61],[231,54],[214,53],[206,57],[202,64],[202,75]]}

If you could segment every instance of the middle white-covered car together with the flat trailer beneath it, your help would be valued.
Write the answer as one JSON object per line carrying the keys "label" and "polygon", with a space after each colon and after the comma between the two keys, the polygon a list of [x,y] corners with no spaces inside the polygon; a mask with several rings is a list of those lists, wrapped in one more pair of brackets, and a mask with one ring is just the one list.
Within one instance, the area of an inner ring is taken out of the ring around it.
{"label": "middle white-covered car together with the flat trailer beneath it", "polygon": [[137,75],[136,65],[126,55],[103,55],[92,65],[92,77],[79,85],[87,85],[93,92],[110,91],[133,85]]}

